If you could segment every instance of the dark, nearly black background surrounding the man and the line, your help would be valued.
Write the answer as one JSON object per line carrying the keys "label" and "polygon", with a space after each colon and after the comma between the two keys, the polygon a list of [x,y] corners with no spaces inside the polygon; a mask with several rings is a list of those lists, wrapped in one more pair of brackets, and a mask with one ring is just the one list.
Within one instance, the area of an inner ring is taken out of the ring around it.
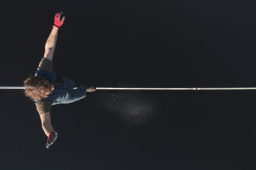
{"label": "dark, nearly black background surrounding the man and the line", "polygon": [[[84,85],[256,87],[253,1],[1,4],[1,86],[22,86],[65,23],[54,70]],[[0,92],[1,169],[253,169],[256,92],[93,92],[52,106],[49,150],[35,104]]]}

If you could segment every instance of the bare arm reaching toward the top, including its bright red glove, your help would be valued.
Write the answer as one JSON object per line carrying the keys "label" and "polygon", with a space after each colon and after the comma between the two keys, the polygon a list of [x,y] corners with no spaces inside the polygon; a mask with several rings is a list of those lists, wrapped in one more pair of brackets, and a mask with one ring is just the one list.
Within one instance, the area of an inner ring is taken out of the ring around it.
{"label": "bare arm reaching toward the top, including its bright red glove", "polygon": [[51,34],[45,43],[44,57],[46,59],[52,60],[57,38],[58,38],[58,30],[60,29],[60,26],[63,24],[65,20],[65,17],[62,17],[62,16],[63,16],[63,12],[58,12],[54,17],[54,24],[52,25]]}

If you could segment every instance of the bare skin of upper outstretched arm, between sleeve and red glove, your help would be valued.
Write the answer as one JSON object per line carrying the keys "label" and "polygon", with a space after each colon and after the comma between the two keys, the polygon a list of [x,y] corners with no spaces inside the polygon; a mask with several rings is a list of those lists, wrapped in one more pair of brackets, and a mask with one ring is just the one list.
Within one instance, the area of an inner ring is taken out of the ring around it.
{"label": "bare skin of upper outstretched arm, between sleeve and red glove", "polygon": [[44,57],[46,59],[52,60],[57,38],[58,38],[58,29],[56,27],[52,27],[51,34],[45,43]]}

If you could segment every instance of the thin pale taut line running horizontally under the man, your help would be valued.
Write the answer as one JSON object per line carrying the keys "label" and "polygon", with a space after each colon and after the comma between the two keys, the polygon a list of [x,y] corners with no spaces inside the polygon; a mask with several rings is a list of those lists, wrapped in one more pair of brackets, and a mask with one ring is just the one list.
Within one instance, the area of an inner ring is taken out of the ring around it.
{"label": "thin pale taut line running horizontally under the man", "polygon": [[[0,89],[26,89],[26,87],[0,87]],[[96,90],[256,90],[256,87],[216,87],[216,88],[123,88],[123,87],[96,87]]]}

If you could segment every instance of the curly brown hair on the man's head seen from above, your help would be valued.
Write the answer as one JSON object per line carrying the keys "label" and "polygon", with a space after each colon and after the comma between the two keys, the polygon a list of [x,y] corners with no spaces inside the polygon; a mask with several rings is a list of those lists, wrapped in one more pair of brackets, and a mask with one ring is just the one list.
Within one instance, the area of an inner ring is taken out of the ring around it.
{"label": "curly brown hair on the man's head seen from above", "polygon": [[32,101],[48,97],[51,92],[51,82],[40,76],[29,76],[24,81],[25,96],[29,97]]}

